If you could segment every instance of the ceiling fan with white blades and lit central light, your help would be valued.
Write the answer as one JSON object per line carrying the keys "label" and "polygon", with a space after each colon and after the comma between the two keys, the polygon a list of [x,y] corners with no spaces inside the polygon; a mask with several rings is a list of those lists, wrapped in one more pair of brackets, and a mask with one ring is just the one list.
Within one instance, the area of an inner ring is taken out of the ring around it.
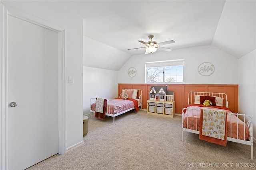
{"label": "ceiling fan with white blades and lit central light", "polygon": [[[148,42],[144,42],[144,41],[140,41],[138,40],[140,43],[145,44],[146,47],[139,47],[139,48],[135,48],[135,49],[141,49],[141,48],[146,48],[146,53],[154,53],[156,52],[157,48],[160,47],[161,49],[163,49],[164,51],[172,51],[172,49],[168,49],[165,47],[161,47],[159,45],[166,45],[166,44],[171,44],[171,43],[175,43],[173,40],[170,41],[164,41],[162,43],[156,43],[156,41],[152,41],[152,38],[154,37],[154,35],[148,35],[148,38],[150,39],[150,41]],[[133,49],[128,49],[128,50],[133,50]]]}

